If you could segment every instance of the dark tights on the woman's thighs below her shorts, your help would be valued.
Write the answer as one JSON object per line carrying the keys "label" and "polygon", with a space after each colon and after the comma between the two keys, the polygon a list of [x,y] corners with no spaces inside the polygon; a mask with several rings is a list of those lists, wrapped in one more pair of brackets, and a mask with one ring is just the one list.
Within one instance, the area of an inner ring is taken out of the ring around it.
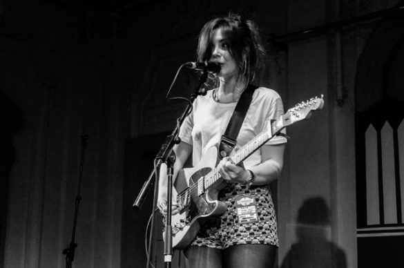
{"label": "dark tights on the woman's thighs below her shorts", "polygon": [[227,249],[189,247],[184,250],[190,268],[272,268],[276,247],[236,245]]}

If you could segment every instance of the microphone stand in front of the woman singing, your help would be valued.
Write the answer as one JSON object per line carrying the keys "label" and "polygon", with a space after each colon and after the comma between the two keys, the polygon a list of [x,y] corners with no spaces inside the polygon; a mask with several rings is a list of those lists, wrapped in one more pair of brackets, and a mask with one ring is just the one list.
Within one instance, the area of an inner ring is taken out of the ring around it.
{"label": "microphone stand in front of the woman singing", "polygon": [[[172,241],[172,227],[171,227],[171,204],[172,204],[172,189],[173,189],[173,164],[175,162],[175,153],[173,152],[174,144],[180,143],[180,137],[178,137],[178,133],[180,133],[180,127],[182,122],[189,112],[191,111],[193,101],[198,95],[206,95],[206,89],[201,88],[202,84],[206,82],[208,77],[207,70],[204,70],[202,75],[200,76],[198,86],[195,87],[195,90],[191,94],[191,102],[186,106],[184,113],[182,116],[177,119],[177,126],[173,130],[171,135],[166,137],[166,140],[162,144],[159,153],[155,157],[157,160],[157,169],[159,169],[162,163],[165,163],[167,166],[167,215],[164,217],[164,230],[165,230],[165,239],[164,239],[164,267],[171,267],[171,260],[173,256],[173,241]],[[147,258],[147,268],[151,264],[151,241],[153,238],[153,227],[154,227],[154,211],[157,203],[157,192],[158,192],[158,175],[156,170],[153,169],[151,174],[148,176],[146,182],[144,182],[140,193],[137,195],[135,202],[133,203],[134,209],[140,209],[144,202],[144,198],[146,197],[148,191],[151,189],[151,185],[155,182],[154,189],[154,198],[153,198],[153,209],[152,209],[152,220],[151,220],[151,231],[149,234],[149,243],[148,243],[148,258]]]}

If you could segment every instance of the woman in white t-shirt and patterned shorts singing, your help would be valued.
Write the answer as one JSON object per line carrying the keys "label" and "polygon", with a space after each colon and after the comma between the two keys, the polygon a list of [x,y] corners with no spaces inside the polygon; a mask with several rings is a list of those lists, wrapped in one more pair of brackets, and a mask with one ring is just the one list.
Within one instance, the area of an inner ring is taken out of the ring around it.
{"label": "woman in white t-shirt and patterned shorts singing", "polygon": [[[264,59],[264,48],[252,21],[229,15],[204,25],[200,32],[198,61],[220,64],[220,71],[212,78],[218,82],[218,87],[195,99],[192,113],[182,124],[182,142],[173,149],[177,156],[174,178],[191,154],[195,166],[206,150],[218,147],[240,95],[257,77]],[[278,93],[269,88],[257,88],[235,150],[258,135],[267,126],[267,120],[277,119],[283,112]],[[229,157],[220,161],[218,169],[228,185],[220,191],[219,198],[227,204],[227,211],[204,224],[190,247],[184,250],[189,267],[273,267],[278,237],[267,185],[280,175],[285,142],[285,137],[273,137],[241,166],[235,165]],[[158,206],[163,214],[167,209],[165,174],[162,166]],[[237,209],[241,198],[255,211],[249,218]],[[178,213],[175,203],[172,211]]]}

